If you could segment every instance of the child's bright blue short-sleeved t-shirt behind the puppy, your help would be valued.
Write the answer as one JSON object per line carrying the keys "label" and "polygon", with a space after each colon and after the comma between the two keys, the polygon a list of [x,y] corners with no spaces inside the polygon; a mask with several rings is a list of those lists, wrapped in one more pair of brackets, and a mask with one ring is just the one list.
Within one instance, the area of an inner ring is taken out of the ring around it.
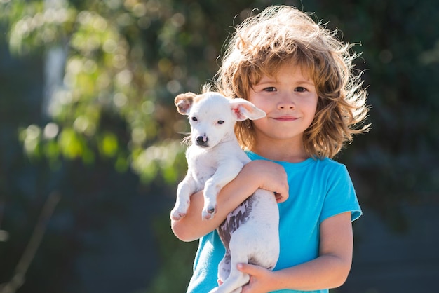
{"label": "child's bright blue short-sleeved t-shirt behind the puppy", "polygon": [[[252,160],[265,160],[250,151],[247,154]],[[320,223],[325,219],[351,212],[354,221],[361,215],[351,177],[344,165],[330,158],[276,163],[281,164],[288,174],[290,196],[278,204],[281,253],[274,271],[318,257]],[[224,252],[217,231],[200,238],[188,293],[206,293],[217,287],[217,267]],[[302,291],[285,289],[276,292]],[[328,290],[308,292],[324,293]]]}

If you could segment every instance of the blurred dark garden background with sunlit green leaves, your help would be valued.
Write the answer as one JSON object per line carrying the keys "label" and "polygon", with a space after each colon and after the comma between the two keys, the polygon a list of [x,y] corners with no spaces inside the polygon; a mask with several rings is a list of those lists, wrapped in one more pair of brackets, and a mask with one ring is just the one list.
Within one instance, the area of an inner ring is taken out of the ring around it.
{"label": "blurred dark garden background with sunlit green leaves", "polygon": [[364,215],[331,292],[439,278],[439,2],[0,0],[0,293],[184,292],[170,231],[199,92],[253,8],[294,5],[363,54],[372,130],[337,156]]}

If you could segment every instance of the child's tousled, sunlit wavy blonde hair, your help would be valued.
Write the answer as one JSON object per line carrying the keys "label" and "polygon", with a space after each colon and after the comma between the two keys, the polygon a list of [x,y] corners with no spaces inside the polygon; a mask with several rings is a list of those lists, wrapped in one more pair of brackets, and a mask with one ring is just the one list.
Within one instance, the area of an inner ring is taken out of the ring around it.
{"label": "child's tousled, sunlit wavy blonde hair", "polygon": [[[248,98],[263,75],[275,77],[285,64],[295,64],[313,79],[318,93],[316,116],[304,132],[304,148],[311,157],[334,157],[354,134],[367,131],[367,93],[353,70],[351,45],[337,31],[314,22],[290,6],[271,6],[236,27],[213,79],[213,87],[227,97]],[[252,149],[251,121],[236,123],[244,149]]]}

